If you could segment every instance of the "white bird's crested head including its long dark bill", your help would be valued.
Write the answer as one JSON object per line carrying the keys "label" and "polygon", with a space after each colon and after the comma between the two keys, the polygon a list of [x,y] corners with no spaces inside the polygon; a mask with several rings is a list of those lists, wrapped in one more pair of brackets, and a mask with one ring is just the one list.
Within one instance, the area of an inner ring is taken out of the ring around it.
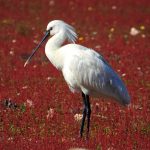
{"label": "white bird's crested head including its long dark bill", "polygon": [[53,20],[48,23],[43,39],[37,45],[37,47],[33,50],[32,54],[29,56],[29,58],[25,62],[24,67],[29,63],[32,56],[35,54],[35,52],[39,49],[39,47],[48,37],[54,36],[55,34],[60,33],[60,32],[64,34],[65,39],[67,39],[68,42],[75,43],[77,39],[77,34],[75,32],[75,29],[71,25],[65,23],[62,20]]}

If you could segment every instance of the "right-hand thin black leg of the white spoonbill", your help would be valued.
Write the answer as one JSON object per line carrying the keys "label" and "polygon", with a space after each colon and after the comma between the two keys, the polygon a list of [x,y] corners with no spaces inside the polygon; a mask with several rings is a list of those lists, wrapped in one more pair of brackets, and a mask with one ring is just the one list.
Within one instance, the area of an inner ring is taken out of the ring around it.
{"label": "right-hand thin black leg of the white spoonbill", "polygon": [[89,134],[90,130],[90,117],[91,117],[91,106],[90,106],[90,100],[89,95],[86,95],[86,105],[87,105],[87,136]]}

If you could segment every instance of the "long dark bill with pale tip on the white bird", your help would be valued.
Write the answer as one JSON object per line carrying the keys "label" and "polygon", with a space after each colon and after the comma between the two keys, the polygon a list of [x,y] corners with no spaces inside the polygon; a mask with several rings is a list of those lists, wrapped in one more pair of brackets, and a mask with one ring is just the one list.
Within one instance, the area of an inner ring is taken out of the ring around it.
{"label": "long dark bill with pale tip on the white bird", "polygon": [[27,59],[27,61],[24,64],[24,67],[30,62],[30,59],[32,58],[32,56],[35,54],[35,52],[39,49],[39,47],[42,45],[42,43],[46,40],[46,38],[49,36],[49,31],[46,31],[43,39],[41,40],[41,42],[37,45],[37,47],[35,49],[33,49],[31,55],[29,56],[29,58]]}

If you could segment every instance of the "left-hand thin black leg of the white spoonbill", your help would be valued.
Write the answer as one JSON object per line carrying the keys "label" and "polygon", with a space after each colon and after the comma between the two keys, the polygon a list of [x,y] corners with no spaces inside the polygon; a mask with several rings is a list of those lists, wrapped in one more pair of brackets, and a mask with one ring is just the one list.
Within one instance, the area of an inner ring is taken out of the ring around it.
{"label": "left-hand thin black leg of the white spoonbill", "polygon": [[86,104],[86,96],[84,93],[82,93],[83,103],[84,103],[84,109],[83,109],[83,117],[82,117],[82,123],[80,128],[80,137],[82,137],[83,129],[84,129],[84,122],[87,115],[87,104]]}

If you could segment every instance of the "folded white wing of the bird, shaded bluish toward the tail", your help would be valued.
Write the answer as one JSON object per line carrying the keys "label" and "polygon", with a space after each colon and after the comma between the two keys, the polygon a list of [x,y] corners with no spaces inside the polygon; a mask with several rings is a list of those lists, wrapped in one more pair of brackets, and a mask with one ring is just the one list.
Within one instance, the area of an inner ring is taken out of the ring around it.
{"label": "folded white wing of the bird, shaded bluish toward the tail", "polygon": [[[81,50],[82,49],[82,50]],[[83,50],[84,49],[84,50]],[[129,99],[127,89],[108,62],[94,50],[79,47],[68,57],[68,67],[78,85],[116,99]]]}

